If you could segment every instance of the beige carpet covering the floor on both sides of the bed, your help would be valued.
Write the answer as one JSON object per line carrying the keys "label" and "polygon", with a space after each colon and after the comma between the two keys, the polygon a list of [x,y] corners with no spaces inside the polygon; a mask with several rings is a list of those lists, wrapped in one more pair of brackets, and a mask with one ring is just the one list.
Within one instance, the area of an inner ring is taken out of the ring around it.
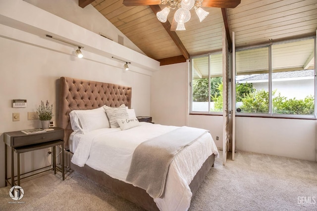
{"label": "beige carpet covering the floor on both sides of the bed", "polygon": [[[9,187],[0,188],[0,210],[143,210],[73,172],[39,174],[22,180],[24,204],[9,204]],[[221,156],[208,173],[190,211],[316,211],[317,163],[238,152],[222,166]]]}

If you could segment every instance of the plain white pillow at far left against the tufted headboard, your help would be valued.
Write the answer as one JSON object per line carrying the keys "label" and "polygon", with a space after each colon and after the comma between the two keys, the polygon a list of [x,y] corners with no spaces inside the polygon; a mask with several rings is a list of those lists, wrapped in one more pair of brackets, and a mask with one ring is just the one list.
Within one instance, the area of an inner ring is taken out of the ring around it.
{"label": "plain white pillow at far left against the tufted headboard", "polygon": [[80,130],[82,134],[89,131],[109,128],[109,120],[104,107],[91,110],[74,110],[69,113],[71,127],[74,131]]}

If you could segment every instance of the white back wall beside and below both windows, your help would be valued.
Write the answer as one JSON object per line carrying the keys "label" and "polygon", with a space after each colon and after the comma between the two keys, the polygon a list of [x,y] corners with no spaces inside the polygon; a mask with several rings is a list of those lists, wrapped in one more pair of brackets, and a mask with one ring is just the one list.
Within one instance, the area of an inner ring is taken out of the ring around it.
{"label": "white back wall beside and below both windows", "polygon": [[[161,66],[152,76],[151,115],[155,122],[184,125],[187,75],[187,65],[182,63]],[[222,116],[186,116],[187,126],[209,129],[217,147],[222,147]],[[316,161],[316,124],[314,120],[237,117],[236,149]]]}

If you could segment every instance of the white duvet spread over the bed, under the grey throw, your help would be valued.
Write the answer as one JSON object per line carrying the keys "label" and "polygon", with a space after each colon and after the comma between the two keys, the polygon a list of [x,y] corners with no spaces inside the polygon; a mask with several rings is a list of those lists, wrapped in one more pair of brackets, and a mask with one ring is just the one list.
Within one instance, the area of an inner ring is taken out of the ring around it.
{"label": "white duvet spread over the bed, under the grey throw", "polygon": [[[102,128],[87,134],[76,133],[72,137],[78,145],[71,162],[80,167],[86,164],[127,182],[125,178],[135,148],[143,141],[176,128],[143,122],[127,130]],[[188,210],[192,197],[188,185],[211,154],[218,155],[218,151],[210,133],[176,154],[169,167],[164,197],[154,199],[159,210]]]}

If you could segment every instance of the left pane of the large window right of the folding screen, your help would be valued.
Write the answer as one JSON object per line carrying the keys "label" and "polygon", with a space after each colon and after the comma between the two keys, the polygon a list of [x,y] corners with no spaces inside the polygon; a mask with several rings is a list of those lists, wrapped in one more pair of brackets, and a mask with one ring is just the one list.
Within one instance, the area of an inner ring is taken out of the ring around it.
{"label": "left pane of the large window right of the folding screen", "polygon": [[237,112],[269,113],[268,75],[268,46],[236,52]]}

